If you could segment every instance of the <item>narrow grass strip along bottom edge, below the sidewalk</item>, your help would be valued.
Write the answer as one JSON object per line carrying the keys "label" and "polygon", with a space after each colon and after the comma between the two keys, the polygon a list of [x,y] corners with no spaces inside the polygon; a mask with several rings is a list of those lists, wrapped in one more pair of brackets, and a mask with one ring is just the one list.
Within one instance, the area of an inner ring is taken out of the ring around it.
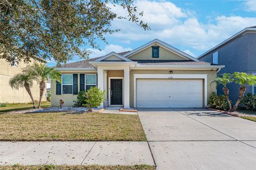
{"label": "narrow grass strip along bottom edge, below the sidewalk", "polygon": [[154,166],[133,165],[133,166],[100,166],[100,165],[37,165],[37,166],[0,166],[3,170],[155,170]]}

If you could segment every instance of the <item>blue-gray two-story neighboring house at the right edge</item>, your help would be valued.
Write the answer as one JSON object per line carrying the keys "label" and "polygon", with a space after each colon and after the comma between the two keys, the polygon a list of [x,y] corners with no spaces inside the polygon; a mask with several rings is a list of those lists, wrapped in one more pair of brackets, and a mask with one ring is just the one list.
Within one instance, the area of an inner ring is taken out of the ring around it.
{"label": "blue-gray two-story neighboring house at the right edge", "polygon": [[[219,45],[200,55],[198,60],[213,64],[225,65],[218,72],[245,72],[256,74],[256,27],[245,28]],[[239,86],[235,83],[228,85],[230,99],[233,104],[238,98]],[[222,87],[218,87],[218,94],[223,94]],[[248,86],[247,92],[256,93],[256,86]]]}

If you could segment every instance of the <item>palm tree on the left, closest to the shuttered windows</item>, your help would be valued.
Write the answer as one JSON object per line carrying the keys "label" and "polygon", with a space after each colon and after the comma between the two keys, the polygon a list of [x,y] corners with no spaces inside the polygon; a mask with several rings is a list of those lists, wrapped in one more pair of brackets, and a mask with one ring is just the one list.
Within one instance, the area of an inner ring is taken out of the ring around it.
{"label": "palm tree on the left, closest to the shuttered windows", "polygon": [[37,83],[39,83],[40,91],[38,108],[40,108],[47,79],[51,79],[53,81],[61,81],[61,73],[56,71],[53,67],[47,67],[44,63],[36,62],[33,65],[28,66],[25,72],[32,74],[35,77]]}

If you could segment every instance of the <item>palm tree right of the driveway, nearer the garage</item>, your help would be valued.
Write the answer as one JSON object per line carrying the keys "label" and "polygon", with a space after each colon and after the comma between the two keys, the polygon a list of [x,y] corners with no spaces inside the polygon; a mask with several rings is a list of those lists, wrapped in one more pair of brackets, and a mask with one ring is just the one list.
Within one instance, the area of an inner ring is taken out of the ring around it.
{"label": "palm tree right of the driveway, nearer the garage", "polygon": [[222,91],[224,92],[225,94],[225,97],[226,97],[226,100],[228,102],[228,106],[229,106],[229,110],[232,108],[231,106],[231,102],[229,100],[229,89],[227,88],[227,84],[233,82],[233,78],[232,78],[232,74],[229,74],[229,73],[223,73],[221,77],[216,77],[212,82],[212,83],[216,83],[217,86],[222,84],[223,85],[223,88],[222,88]]}

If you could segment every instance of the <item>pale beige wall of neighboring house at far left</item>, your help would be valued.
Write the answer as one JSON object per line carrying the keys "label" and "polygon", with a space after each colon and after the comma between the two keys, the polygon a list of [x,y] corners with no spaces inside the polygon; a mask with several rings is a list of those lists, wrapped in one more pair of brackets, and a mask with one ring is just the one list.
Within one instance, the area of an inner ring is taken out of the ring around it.
{"label": "pale beige wall of neighboring house at far left", "polygon": [[[33,64],[35,60],[31,60]],[[38,61],[36,61],[38,62]],[[19,90],[12,89],[9,85],[9,80],[15,76],[15,74],[21,73],[22,69],[28,64],[20,62],[17,67],[11,66],[4,59],[0,59],[0,103],[29,103],[31,99],[25,88]],[[35,81],[31,88],[32,95],[35,100],[39,100],[39,85]],[[43,101],[46,100],[46,89],[43,95]]]}

